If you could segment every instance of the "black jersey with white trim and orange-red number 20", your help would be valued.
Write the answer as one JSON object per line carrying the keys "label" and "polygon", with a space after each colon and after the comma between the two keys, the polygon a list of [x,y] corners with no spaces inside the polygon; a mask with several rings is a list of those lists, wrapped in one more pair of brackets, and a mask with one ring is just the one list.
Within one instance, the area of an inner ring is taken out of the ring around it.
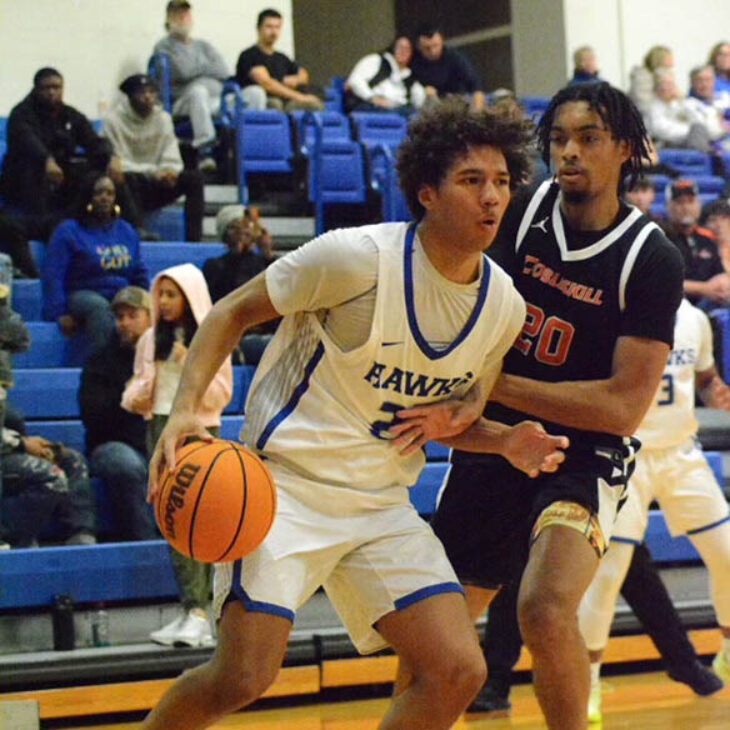
{"label": "black jersey with white trim and orange-red number 20", "polygon": [[[671,346],[682,263],[655,223],[622,204],[617,221],[586,242],[585,234],[567,228],[560,188],[551,181],[517,213],[515,218],[513,211],[511,230],[505,221],[500,255],[495,256],[527,304],[525,325],[505,357],[504,372],[545,382],[600,380],[611,375],[620,336]],[[486,415],[506,423],[535,418],[496,403],[488,405]],[[571,440],[621,441],[540,420],[548,431]],[[459,454],[455,452],[455,461],[474,457]]]}

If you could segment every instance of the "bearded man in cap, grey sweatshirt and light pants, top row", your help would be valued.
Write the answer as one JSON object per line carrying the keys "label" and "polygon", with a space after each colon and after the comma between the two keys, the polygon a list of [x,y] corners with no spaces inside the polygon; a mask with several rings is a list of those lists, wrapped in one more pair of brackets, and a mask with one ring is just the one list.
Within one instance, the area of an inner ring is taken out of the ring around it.
{"label": "bearded man in cap, grey sweatshirt and light pants, top row", "polygon": [[192,145],[202,156],[199,167],[214,170],[213,115],[220,110],[223,81],[228,78],[229,70],[223,56],[208,41],[190,37],[193,28],[191,8],[187,0],[167,3],[165,28],[168,34],[157,42],[153,53],[164,53],[170,59],[172,113],[190,117]]}

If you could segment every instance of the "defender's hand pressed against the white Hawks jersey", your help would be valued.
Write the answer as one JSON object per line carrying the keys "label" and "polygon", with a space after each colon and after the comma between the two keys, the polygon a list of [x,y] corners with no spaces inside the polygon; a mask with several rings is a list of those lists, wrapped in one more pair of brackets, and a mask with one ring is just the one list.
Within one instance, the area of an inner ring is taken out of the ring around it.
{"label": "defender's hand pressed against the white Hawks jersey", "polygon": [[427,441],[456,436],[471,426],[481,413],[472,403],[445,400],[396,412],[397,422],[388,429],[393,443],[408,456]]}

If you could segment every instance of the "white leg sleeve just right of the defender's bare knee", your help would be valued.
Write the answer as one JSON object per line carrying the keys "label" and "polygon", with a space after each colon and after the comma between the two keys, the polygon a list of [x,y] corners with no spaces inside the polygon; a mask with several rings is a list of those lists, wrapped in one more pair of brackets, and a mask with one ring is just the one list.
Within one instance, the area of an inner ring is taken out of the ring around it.
{"label": "white leg sleeve just right of the defender's bare knee", "polygon": [[590,651],[600,651],[608,643],[616,610],[616,596],[626,577],[633,551],[633,545],[612,542],[583,596],[578,609],[578,622]]}

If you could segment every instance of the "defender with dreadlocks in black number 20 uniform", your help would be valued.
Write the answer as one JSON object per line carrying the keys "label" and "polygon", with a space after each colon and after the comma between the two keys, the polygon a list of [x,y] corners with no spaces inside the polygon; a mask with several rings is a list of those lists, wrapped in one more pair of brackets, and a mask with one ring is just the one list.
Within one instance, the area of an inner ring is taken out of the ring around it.
{"label": "defender with dreadlocks in black number 20 uniform", "polygon": [[[682,262],[661,230],[619,197],[647,156],[633,104],[608,84],[560,91],[538,126],[555,179],[513,204],[499,260],[527,303],[486,411],[537,418],[570,447],[530,479],[481,454],[479,422],[454,451],[434,528],[481,615],[523,573],[519,617],[550,728],[587,723],[588,655],[577,608],[611,534],[682,296]],[[423,418],[401,412],[399,416]],[[529,546],[529,552],[528,552]]]}

